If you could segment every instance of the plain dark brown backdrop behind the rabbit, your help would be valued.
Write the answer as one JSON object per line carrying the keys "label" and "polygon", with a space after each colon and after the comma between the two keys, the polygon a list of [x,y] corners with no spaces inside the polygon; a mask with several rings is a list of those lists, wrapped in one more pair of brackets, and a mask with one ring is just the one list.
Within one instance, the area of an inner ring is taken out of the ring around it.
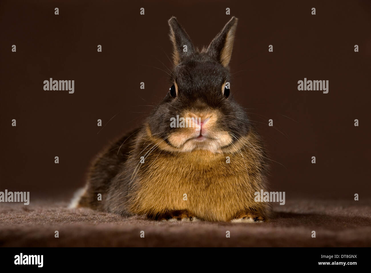
{"label": "plain dark brown backdrop behind the rabbit", "polygon": [[[370,1],[152,2],[1,1],[0,191],[69,196],[81,187],[93,156],[168,91],[160,70],[171,65],[167,20],[177,16],[201,47],[230,7],[239,18],[231,91],[253,108],[280,163],[271,189],[286,198],[370,197]],[[298,91],[305,77],[329,80],[329,93]],[[75,93],[44,91],[49,78],[75,80]]]}

